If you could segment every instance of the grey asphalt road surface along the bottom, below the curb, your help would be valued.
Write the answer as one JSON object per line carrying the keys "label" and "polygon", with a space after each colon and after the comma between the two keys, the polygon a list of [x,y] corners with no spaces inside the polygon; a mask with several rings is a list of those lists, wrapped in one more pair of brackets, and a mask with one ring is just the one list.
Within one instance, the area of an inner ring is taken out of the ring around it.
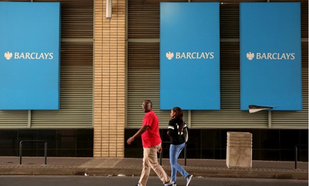
{"label": "grey asphalt road surface along the bottom, below the curb", "polygon": [[[0,186],[135,186],[139,176],[0,176]],[[177,177],[177,186],[185,186]],[[147,186],[163,186],[150,177]],[[308,180],[193,178],[190,186],[308,186]]]}

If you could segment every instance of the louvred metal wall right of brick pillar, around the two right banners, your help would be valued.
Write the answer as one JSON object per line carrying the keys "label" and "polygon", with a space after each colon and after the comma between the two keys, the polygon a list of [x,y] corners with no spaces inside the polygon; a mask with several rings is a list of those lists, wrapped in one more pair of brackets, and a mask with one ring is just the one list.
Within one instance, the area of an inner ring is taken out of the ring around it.
{"label": "louvred metal wall right of brick pillar, around the two right banners", "polygon": [[[308,128],[308,1],[302,1],[304,110],[253,114],[240,111],[239,2],[245,1],[252,0],[220,1],[221,110],[185,111],[184,117],[192,128]],[[154,101],[161,127],[169,120],[169,111],[159,111],[159,2],[128,0],[127,128],[140,127],[144,99]],[[293,122],[284,122],[286,117]]]}

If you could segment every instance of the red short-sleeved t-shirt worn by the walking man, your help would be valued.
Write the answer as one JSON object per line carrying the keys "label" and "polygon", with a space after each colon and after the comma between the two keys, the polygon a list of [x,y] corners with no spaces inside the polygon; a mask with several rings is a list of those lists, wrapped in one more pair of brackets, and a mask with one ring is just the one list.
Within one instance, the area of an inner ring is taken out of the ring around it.
{"label": "red short-sleeved t-shirt worn by the walking man", "polygon": [[142,143],[144,148],[159,145],[162,140],[159,134],[159,119],[153,110],[145,114],[143,125],[149,125],[149,128],[142,134]]}

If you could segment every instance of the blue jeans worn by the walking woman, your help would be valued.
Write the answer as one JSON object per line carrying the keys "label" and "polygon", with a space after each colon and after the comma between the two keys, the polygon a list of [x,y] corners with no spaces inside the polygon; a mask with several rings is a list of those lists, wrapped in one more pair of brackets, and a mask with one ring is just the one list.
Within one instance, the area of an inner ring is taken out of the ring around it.
{"label": "blue jeans worn by the walking woman", "polygon": [[178,156],[182,152],[182,150],[185,148],[185,143],[180,144],[180,145],[172,145],[170,146],[170,164],[172,168],[172,176],[171,180],[176,182],[176,175],[177,171],[180,172],[183,177],[187,177],[189,173],[185,171],[185,169],[177,163]]}

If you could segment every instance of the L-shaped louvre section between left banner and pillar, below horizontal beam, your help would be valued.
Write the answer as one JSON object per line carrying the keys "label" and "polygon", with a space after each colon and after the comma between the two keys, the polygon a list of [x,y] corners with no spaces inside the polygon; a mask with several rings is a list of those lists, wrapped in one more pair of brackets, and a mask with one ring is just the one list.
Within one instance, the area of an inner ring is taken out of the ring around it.
{"label": "L-shaped louvre section between left banner and pillar, below horizontal beam", "polygon": [[93,43],[63,42],[60,110],[31,111],[31,128],[93,127]]}

